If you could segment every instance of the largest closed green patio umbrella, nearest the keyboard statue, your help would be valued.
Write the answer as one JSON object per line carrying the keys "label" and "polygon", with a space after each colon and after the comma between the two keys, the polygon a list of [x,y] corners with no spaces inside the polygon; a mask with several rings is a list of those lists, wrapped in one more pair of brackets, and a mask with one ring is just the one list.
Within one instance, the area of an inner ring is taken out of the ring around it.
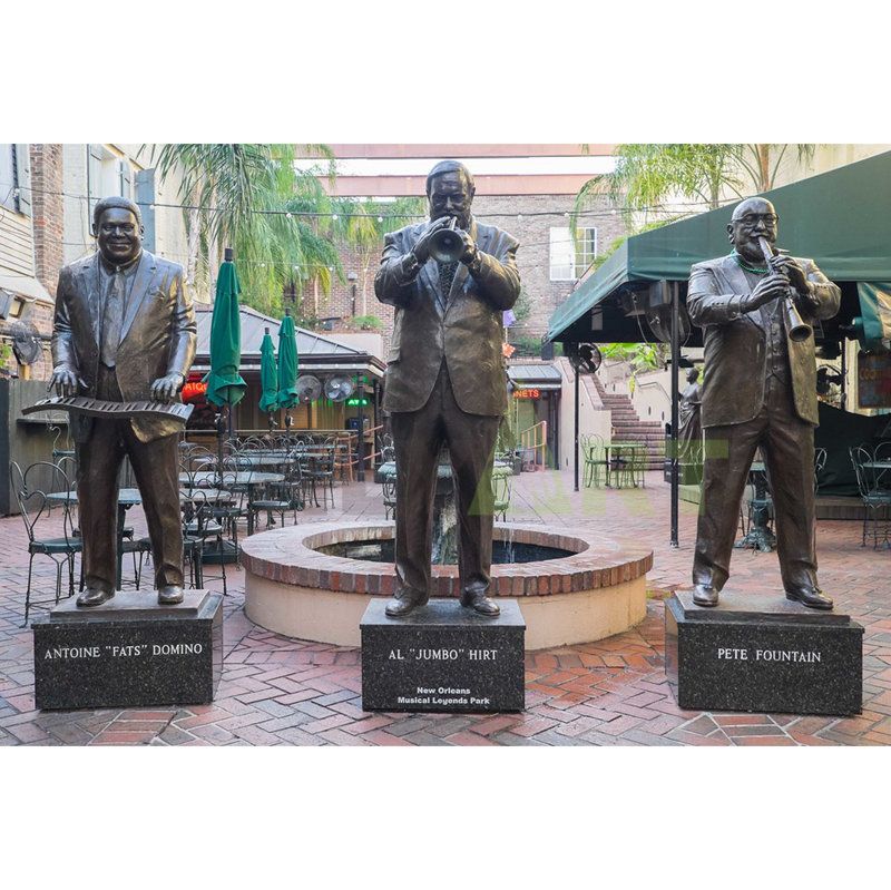
{"label": "largest closed green patio umbrella, nearest the keyboard statue", "polygon": [[216,280],[214,315],[210,321],[210,370],[204,378],[207,401],[232,407],[244,398],[247,384],[238,373],[242,363],[242,325],[238,317],[238,275],[226,247],[225,261]]}

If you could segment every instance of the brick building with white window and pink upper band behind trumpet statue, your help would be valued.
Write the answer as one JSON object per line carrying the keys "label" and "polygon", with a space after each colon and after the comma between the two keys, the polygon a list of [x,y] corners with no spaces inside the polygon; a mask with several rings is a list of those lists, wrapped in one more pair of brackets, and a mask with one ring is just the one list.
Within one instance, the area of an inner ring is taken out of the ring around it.
{"label": "brick building with white window and pink upper band behind trumpet statue", "polygon": [[[523,345],[521,352],[528,353],[532,341],[541,339],[554,310],[569,296],[590,262],[613,241],[627,234],[621,216],[606,198],[593,204],[579,221],[585,232],[578,244],[574,244],[569,233],[568,216],[575,195],[605,166],[611,146],[588,146],[587,154],[581,146],[569,145],[335,145],[332,149],[345,165],[339,172],[334,190],[349,197],[422,198],[425,175],[433,164],[447,157],[467,164],[477,184],[474,216],[507,229],[520,242],[517,263],[525,295],[521,319],[509,331],[509,339]],[[376,162],[380,172],[351,173],[350,159],[355,158],[368,159],[366,164],[372,166],[362,169],[372,172]],[[537,172],[517,173],[518,162],[527,162]],[[411,173],[407,174],[407,169]],[[342,247],[341,261],[347,280],[335,281],[327,296],[310,292],[304,299],[311,312],[332,320],[333,330],[349,326],[354,316],[378,316],[383,322],[385,349],[393,310],[374,296],[379,260],[379,252],[360,255]]]}

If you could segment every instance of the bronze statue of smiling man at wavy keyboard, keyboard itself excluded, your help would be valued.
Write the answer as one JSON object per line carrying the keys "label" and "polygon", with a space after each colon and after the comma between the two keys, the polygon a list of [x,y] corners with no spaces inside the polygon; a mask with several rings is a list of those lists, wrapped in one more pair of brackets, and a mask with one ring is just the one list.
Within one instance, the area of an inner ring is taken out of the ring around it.
{"label": "bronze statue of smiling man at wavy keyboard, keyboard itself excluded", "polygon": [[[178,400],[195,358],[196,324],[183,268],[143,250],[139,208],[101,199],[92,214],[99,250],[65,266],[56,292],[50,388],[110,402]],[[163,414],[108,419],[71,413],[86,587],[99,606],[117,587],[117,498],[129,458],[143,498],[160,605],[183,602],[178,437]]]}

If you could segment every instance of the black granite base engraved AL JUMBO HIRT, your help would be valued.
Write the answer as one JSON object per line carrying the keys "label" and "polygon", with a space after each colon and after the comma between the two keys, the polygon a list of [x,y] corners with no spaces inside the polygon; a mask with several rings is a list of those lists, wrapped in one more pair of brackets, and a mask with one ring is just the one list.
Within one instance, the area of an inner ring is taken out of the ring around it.
{"label": "black granite base engraved AL JUMBO HIRT", "polygon": [[526,622],[513,599],[495,618],[431,599],[390,618],[373,599],[362,617],[365,711],[522,711]]}

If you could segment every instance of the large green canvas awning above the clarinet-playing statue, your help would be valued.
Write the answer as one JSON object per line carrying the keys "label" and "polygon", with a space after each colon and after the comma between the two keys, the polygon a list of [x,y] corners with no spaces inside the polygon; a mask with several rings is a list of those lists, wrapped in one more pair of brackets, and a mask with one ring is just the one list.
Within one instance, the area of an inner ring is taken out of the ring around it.
{"label": "large green canvas awning above the clarinet-playing statue", "polygon": [[[764,195],[780,215],[781,247],[813,257],[834,282],[891,280],[891,151],[811,176]],[[730,252],[734,205],[629,237],[557,309],[546,340],[619,288],[689,277],[694,263]]]}

